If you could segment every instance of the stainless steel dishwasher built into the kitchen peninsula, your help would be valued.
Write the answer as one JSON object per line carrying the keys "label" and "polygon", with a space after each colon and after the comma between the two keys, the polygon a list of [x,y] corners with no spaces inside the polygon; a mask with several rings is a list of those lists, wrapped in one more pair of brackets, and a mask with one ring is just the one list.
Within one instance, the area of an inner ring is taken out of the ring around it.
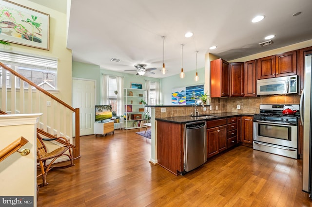
{"label": "stainless steel dishwasher built into the kitchen peninsula", "polygon": [[207,161],[206,121],[185,124],[184,172],[189,172]]}

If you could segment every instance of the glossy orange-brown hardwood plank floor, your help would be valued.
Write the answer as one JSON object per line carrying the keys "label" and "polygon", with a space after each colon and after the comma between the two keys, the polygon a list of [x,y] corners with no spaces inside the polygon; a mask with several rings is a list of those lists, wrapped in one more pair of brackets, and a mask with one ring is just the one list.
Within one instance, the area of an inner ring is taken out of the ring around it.
{"label": "glossy orange-brown hardwood plank floor", "polygon": [[302,160],[238,146],[175,176],[149,163],[151,140],[137,131],[81,137],[81,157],[48,173],[38,207],[312,206],[301,190]]}

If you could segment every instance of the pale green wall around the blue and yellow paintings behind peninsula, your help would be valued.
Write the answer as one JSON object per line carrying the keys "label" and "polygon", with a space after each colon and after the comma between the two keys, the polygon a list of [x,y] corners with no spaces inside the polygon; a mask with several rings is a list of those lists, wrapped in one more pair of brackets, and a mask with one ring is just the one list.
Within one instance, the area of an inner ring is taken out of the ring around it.
{"label": "pale green wall around the blue and yellow paintings behind peninsula", "polygon": [[[184,70],[185,71],[185,70]],[[196,86],[205,83],[205,69],[197,69],[199,81],[196,82],[195,78],[196,70],[185,72],[185,77],[180,78],[179,74],[172,75],[160,80],[160,103],[163,105],[171,105],[171,92],[173,88],[179,88],[184,86]]]}

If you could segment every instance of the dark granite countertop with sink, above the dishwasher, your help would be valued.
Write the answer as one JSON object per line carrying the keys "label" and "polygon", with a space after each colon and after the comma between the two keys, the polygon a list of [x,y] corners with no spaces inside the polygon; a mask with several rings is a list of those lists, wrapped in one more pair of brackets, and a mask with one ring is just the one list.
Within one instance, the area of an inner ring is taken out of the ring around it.
{"label": "dark granite countertop with sink, above the dishwasher", "polygon": [[254,116],[254,114],[225,112],[225,113],[205,114],[205,115],[200,115],[199,117],[180,116],[180,117],[156,118],[156,120],[172,122],[172,123],[188,123],[188,122],[194,122],[194,121],[218,120],[218,119],[224,119],[224,118],[235,117],[235,116]]}

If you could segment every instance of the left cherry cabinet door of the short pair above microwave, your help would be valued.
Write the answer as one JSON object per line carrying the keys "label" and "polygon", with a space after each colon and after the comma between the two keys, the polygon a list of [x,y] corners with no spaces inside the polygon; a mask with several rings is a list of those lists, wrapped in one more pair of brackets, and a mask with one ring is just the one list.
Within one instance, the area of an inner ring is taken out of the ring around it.
{"label": "left cherry cabinet door of the short pair above microwave", "polygon": [[257,59],[258,79],[275,77],[275,55]]}

